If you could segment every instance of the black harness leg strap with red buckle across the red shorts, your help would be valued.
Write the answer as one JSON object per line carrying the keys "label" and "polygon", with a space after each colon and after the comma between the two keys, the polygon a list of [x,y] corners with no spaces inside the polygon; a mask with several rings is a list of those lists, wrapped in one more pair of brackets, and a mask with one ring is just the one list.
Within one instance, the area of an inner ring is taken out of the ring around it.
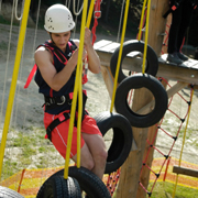
{"label": "black harness leg strap with red buckle across the red shorts", "polygon": [[55,119],[51,122],[51,124],[46,129],[46,135],[45,139],[48,139],[52,142],[52,131],[61,123],[65,122],[70,118],[70,113],[63,113],[59,118]]}

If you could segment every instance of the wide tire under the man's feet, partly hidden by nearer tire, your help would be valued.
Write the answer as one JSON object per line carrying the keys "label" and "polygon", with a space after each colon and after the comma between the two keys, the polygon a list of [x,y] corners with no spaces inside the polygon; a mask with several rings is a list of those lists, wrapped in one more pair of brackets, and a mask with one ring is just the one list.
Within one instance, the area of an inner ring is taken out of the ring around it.
{"label": "wide tire under the man's feet, partly hidden by nearer tire", "polygon": [[[69,167],[68,175],[79,183],[81,190],[84,190],[89,198],[111,198],[110,193],[103,182],[89,169],[85,167],[77,168],[76,166],[73,166]],[[44,182],[38,190],[36,198],[43,198],[42,196],[44,195],[44,188],[46,188],[48,183],[52,183],[53,178],[56,176],[63,177],[64,169],[56,172],[54,175],[47,178],[46,182]]]}

